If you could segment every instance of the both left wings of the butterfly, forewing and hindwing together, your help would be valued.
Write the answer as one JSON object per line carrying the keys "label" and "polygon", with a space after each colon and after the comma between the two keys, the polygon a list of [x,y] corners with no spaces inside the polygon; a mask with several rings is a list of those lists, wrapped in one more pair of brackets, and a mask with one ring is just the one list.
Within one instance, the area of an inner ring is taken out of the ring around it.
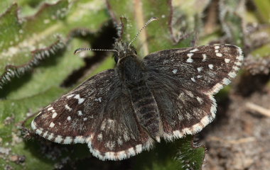
{"label": "both left wings of the butterfly, forewing and hindwing together", "polygon": [[43,109],[33,130],[53,142],[87,143],[99,159],[125,159],[148,149],[151,137],[136,123],[114,69],[91,77]]}

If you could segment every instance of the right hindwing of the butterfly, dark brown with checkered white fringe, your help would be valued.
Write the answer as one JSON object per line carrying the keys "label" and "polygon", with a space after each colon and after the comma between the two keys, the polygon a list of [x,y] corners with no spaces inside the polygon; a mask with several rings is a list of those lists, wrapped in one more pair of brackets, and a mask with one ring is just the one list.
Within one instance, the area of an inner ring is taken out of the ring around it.
{"label": "right hindwing of the butterfly, dark brown with checkered white fringe", "polygon": [[163,86],[152,89],[156,98],[166,140],[200,132],[215,118],[215,98],[180,86]]}

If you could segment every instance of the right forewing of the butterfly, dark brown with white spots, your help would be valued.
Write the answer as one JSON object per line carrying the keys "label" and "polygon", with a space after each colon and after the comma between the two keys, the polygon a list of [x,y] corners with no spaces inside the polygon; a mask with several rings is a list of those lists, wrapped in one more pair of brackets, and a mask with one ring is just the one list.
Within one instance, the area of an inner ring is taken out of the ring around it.
{"label": "right forewing of the butterfly, dark brown with white spots", "polygon": [[[148,70],[166,74],[185,88],[215,94],[236,76],[242,50],[234,45],[205,45],[153,52],[144,58]],[[199,89],[198,89],[199,88]]]}

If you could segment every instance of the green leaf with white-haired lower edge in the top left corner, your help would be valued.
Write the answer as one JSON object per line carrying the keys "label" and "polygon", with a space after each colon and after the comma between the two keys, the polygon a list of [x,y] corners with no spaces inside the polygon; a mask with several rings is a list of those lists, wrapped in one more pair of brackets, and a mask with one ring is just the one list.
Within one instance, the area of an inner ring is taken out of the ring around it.
{"label": "green leaf with white-haired lower edge in the top left corner", "polygon": [[[62,11],[67,6],[67,1],[54,6],[45,4],[35,16],[19,20],[18,6],[13,4],[0,17],[0,39],[3,40],[0,45],[0,86],[64,47],[64,40],[53,32],[53,24],[63,19],[65,13]],[[61,13],[57,13],[59,9]],[[55,19],[50,21],[50,15]]]}

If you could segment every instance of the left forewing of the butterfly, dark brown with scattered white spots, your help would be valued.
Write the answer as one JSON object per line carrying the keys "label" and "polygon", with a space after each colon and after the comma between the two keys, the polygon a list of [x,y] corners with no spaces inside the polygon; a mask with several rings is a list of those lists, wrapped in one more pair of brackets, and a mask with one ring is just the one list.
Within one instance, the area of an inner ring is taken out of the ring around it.
{"label": "left forewing of the butterfly, dark brown with scattered white spots", "polygon": [[[32,127],[39,135],[54,142],[85,142],[97,126],[102,106],[108,100],[105,96],[114,88],[113,84],[113,70],[91,77],[44,108],[33,120]],[[66,137],[70,140],[65,140]]]}

